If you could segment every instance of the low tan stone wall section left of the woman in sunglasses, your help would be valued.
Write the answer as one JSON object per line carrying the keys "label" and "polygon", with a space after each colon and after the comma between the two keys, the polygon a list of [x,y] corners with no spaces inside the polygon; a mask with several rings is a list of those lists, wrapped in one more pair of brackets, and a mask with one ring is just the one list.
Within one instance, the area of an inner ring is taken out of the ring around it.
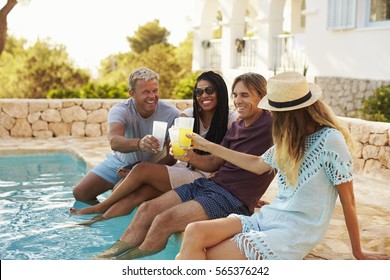
{"label": "low tan stone wall section left of the woman in sunglasses", "polygon": [[[0,138],[107,134],[109,109],[115,99],[0,99]],[[167,100],[183,110],[192,100]]]}

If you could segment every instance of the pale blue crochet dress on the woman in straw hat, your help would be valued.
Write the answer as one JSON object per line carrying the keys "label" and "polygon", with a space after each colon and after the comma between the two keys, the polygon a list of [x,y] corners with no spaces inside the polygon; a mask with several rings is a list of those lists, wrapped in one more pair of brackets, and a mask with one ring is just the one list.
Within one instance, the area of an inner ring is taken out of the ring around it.
{"label": "pale blue crochet dress on the woman in straw hat", "polygon": [[[248,259],[303,259],[325,235],[335,186],[352,181],[352,158],[343,135],[327,127],[306,138],[305,151],[297,187],[287,186],[279,172],[279,191],[270,205],[252,216],[229,216],[241,219],[242,233],[233,240]],[[274,152],[273,146],[262,157],[278,169]]]}

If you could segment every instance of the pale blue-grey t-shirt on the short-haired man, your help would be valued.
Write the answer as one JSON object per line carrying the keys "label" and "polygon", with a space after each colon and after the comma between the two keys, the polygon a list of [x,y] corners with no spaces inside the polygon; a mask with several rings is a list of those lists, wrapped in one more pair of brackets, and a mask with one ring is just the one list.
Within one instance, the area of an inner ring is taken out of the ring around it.
{"label": "pale blue-grey t-shirt on the short-haired man", "polygon": [[[177,108],[159,100],[153,115],[145,119],[138,113],[134,99],[129,98],[115,104],[111,108],[108,113],[108,123],[119,122],[124,124],[125,137],[127,138],[143,138],[145,135],[152,134],[153,121],[167,122],[167,128],[170,128],[179,115],[180,111]],[[168,133],[166,133],[167,139],[169,139]],[[114,151],[114,155],[126,164],[132,164],[137,161],[157,162],[165,157],[166,150],[163,149],[156,154],[141,151],[130,153]]]}

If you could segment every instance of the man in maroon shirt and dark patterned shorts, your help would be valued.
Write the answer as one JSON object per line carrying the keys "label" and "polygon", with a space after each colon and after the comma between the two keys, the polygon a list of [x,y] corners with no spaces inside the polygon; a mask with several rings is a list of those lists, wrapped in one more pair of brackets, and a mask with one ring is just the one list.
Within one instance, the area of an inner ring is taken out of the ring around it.
{"label": "man in maroon shirt and dark patterned shorts", "polygon": [[[272,146],[271,114],[257,106],[266,95],[266,83],[256,73],[246,73],[234,80],[232,96],[239,116],[226,133],[222,146],[253,155],[261,155]],[[119,241],[96,256],[97,259],[152,255],[165,248],[172,233],[183,231],[191,222],[232,213],[250,215],[275,176],[273,173],[256,175],[214,155],[199,155],[191,150],[180,160],[215,174],[141,204]]]}

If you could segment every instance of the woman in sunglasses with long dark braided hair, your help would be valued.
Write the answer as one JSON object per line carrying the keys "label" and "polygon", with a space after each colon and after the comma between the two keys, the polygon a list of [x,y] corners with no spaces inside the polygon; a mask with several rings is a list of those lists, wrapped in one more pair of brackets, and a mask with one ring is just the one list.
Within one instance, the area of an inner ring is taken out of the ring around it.
{"label": "woman in sunglasses with long dark braided hair", "polygon": [[[228,90],[222,76],[213,71],[200,74],[194,87],[193,100],[193,108],[187,108],[181,116],[193,117],[193,131],[208,141],[219,144],[238,115],[229,110]],[[129,171],[107,199],[83,209],[71,208],[70,212],[79,215],[103,213],[82,223],[84,225],[127,215],[146,200],[195,179],[208,178],[209,175],[208,172],[187,166],[186,162],[178,161],[173,166],[140,162]]]}

